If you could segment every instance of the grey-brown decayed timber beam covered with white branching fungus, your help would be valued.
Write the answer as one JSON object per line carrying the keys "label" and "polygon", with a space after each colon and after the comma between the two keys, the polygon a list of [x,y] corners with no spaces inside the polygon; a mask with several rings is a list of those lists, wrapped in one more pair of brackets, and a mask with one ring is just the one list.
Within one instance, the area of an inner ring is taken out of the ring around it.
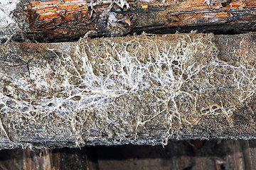
{"label": "grey-brown decayed timber beam covered with white branching fungus", "polygon": [[256,137],[255,33],[0,47],[0,145]]}

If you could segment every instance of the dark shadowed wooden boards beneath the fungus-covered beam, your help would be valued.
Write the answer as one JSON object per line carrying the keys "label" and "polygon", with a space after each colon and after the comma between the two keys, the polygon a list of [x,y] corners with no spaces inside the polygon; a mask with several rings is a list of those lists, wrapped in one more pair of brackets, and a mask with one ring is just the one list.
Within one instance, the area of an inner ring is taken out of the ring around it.
{"label": "dark shadowed wooden boards beneath the fungus-covered beam", "polygon": [[122,145],[2,150],[0,169],[254,170],[255,159],[255,140],[193,140],[172,141],[164,148]]}

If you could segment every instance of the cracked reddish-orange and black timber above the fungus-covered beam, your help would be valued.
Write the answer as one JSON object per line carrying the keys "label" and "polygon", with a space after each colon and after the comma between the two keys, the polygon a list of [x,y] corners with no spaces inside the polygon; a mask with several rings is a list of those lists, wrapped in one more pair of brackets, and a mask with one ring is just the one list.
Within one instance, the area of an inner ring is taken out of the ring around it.
{"label": "cracked reddish-orange and black timber above the fungus-covered beam", "polygon": [[[77,40],[131,33],[245,33],[255,30],[254,0],[78,1],[13,0],[1,7],[1,40]],[[10,9],[11,10],[11,9]]]}

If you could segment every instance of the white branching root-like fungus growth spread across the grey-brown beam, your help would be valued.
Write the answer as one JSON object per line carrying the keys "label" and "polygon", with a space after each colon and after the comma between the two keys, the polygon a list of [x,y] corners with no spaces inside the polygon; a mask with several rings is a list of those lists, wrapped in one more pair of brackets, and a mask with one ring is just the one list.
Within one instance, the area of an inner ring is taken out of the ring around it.
{"label": "white branching root-like fungus growth spread across the grey-brown beam", "polygon": [[82,38],[75,52],[46,49],[41,57],[28,54],[29,76],[0,69],[6,84],[1,118],[9,129],[70,135],[82,144],[97,137],[137,140],[146,127],[161,129],[166,144],[176,130],[193,128],[203,116],[230,118],[235,106],[255,94],[250,55],[237,51],[237,62],[220,60],[212,34]]}

